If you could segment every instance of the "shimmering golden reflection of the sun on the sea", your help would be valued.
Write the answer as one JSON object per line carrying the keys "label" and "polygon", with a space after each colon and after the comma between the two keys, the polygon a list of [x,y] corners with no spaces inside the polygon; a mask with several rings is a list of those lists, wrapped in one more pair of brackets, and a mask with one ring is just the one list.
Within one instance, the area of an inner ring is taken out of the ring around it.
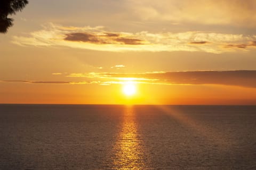
{"label": "shimmering golden reflection of the sun on the sea", "polygon": [[142,139],[132,106],[125,108],[123,125],[115,145],[114,169],[146,169]]}

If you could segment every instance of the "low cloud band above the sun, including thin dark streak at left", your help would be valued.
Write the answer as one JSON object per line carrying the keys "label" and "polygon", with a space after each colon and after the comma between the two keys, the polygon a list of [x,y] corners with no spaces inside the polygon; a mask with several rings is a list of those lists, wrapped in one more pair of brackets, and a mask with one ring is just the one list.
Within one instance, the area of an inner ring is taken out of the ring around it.
{"label": "low cloud band above the sun, including thin dark streak at left", "polygon": [[33,84],[123,84],[133,81],[143,84],[165,85],[229,85],[256,88],[256,70],[236,71],[182,71],[182,72],[145,72],[141,74],[120,74],[109,72],[72,73],[65,77],[80,78],[82,81],[31,81],[3,80],[7,83]]}

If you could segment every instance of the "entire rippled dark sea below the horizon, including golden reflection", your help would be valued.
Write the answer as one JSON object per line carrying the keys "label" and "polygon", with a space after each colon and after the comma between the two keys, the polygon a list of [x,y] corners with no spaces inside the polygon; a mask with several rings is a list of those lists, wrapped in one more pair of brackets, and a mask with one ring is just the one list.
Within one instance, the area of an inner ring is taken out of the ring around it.
{"label": "entire rippled dark sea below the horizon, including golden reflection", "polygon": [[0,169],[256,169],[256,106],[2,104]]}

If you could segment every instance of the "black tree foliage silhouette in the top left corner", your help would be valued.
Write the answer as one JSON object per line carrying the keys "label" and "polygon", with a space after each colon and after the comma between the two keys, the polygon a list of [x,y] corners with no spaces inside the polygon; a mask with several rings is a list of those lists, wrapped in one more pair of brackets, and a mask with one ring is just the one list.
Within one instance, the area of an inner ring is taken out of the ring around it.
{"label": "black tree foliage silhouette in the top left corner", "polygon": [[13,26],[13,19],[8,15],[16,14],[28,4],[27,0],[0,0],[0,33],[7,33]]}

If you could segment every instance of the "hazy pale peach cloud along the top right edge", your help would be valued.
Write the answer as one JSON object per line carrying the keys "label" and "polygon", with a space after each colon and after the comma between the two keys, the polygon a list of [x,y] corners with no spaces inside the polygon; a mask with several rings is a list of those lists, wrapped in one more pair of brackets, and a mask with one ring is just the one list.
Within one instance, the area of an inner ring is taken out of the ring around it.
{"label": "hazy pale peach cloud along the top right edge", "polygon": [[255,27],[254,0],[126,0],[130,15],[140,20]]}

